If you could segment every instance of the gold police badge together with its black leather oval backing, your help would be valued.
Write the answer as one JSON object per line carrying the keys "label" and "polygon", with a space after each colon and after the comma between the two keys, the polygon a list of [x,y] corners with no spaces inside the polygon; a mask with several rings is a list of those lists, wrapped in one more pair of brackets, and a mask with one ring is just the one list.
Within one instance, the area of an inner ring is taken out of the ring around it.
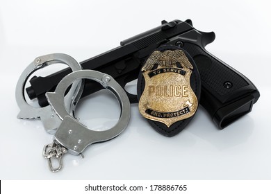
{"label": "gold police badge together with its black leather oval backing", "polygon": [[183,130],[197,111],[200,79],[195,62],[179,47],[162,46],[138,78],[139,111],[165,136]]}

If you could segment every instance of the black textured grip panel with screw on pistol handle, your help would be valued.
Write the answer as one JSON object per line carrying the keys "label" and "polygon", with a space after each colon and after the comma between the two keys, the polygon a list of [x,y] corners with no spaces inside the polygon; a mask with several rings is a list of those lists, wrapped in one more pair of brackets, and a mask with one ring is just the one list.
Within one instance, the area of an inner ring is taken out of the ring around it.
{"label": "black textured grip panel with screw on pistol handle", "polygon": [[246,80],[227,67],[227,64],[208,55],[199,46],[186,42],[183,48],[195,60],[202,85],[207,85],[220,96],[249,85]]}

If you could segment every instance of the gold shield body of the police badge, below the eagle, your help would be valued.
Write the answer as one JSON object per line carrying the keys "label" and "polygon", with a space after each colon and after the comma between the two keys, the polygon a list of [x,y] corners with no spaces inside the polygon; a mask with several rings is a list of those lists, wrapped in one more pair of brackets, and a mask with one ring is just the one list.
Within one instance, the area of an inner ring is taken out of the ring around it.
{"label": "gold shield body of the police badge, below the eagle", "polygon": [[[169,72],[167,72],[167,70]],[[170,127],[173,123],[189,118],[197,110],[197,97],[190,87],[190,69],[161,68],[154,71],[166,71],[149,77],[145,71],[145,90],[139,102],[142,116],[159,121]],[[175,72],[171,72],[175,71]],[[183,72],[181,75],[177,72]]]}

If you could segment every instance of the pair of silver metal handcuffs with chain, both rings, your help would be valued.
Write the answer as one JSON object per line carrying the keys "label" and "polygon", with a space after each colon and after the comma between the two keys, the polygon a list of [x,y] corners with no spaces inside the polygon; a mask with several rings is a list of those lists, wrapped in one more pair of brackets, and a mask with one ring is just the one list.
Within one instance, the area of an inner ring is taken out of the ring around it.
{"label": "pair of silver metal handcuffs with chain, both rings", "polygon": [[[47,107],[32,107],[24,97],[26,80],[34,71],[55,63],[67,64],[73,72],[59,82],[54,92],[47,92],[46,97],[49,102]],[[82,79],[99,82],[105,89],[110,90],[119,101],[120,119],[109,130],[90,130],[74,118],[76,103],[78,103],[83,91]],[[72,87],[65,96],[69,85]],[[20,108],[17,118],[41,118],[44,129],[54,134],[53,143],[45,145],[42,152],[43,156],[47,158],[52,172],[57,172],[63,167],[62,157],[66,152],[72,155],[81,155],[88,145],[108,141],[118,136],[125,130],[131,116],[129,98],[124,89],[111,76],[99,71],[81,70],[81,66],[76,60],[69,55],[60,53],[41,56],[28,65],[17,82],[16,100]],[[53,167],[53,159],[58,160],[58,166]]]}

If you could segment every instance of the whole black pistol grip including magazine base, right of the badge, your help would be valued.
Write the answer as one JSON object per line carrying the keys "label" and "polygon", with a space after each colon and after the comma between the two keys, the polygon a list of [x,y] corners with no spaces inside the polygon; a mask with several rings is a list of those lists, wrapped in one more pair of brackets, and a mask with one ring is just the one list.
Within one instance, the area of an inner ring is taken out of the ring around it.
{"label": "whole black pistol grip including magazine base, right of the badge", "polygon": [[220,129],[252,110],[260,94],[249,79],[208,53],[203,46],[185,42],[183,48],[199,69],[202,80],[200,103]]}

